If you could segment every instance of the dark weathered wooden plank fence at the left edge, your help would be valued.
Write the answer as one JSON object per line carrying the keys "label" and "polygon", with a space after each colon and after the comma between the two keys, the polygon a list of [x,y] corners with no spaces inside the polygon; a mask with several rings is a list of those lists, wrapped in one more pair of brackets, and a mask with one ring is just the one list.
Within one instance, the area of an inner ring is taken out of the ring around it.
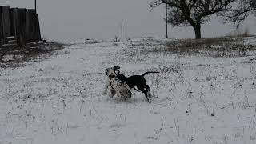
{"label": "dark weathered wooden plank fence at the left edge", "polygon": [[41,41],[39,18],[33,9],[0,6],[0,45]]}

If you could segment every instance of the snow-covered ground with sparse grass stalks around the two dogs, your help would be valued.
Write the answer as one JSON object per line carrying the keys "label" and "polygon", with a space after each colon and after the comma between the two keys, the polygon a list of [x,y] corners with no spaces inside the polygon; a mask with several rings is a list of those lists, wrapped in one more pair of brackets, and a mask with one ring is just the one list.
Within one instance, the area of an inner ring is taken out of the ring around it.
{"label": "snow-covered ground with sparse grass stalks around the two dogs", "polygon": [[[0,144],[256,143],[256,55],[145,52],[165,41],[74,42],[0,70]],[[154,98],[103,95],[104,70],[116,65],[126,75],[160,71],[146,75]]]}

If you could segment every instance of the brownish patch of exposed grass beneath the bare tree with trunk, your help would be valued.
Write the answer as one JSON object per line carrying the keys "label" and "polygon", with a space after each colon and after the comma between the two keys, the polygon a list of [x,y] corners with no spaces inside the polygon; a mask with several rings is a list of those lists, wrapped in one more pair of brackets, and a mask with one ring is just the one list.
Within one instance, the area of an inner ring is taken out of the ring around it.
{"label": "brownish patch of exposed grass beneath the bare tree with trunk", "polygon": [[245,56],[248,51],[256,50],[255,45],[248,44],[245,41],[244,37],[174,40],[166,42],[166,46],[156,46],[151,50],[147,50],[147,52],[167,54],[206,54],[214,57]]}

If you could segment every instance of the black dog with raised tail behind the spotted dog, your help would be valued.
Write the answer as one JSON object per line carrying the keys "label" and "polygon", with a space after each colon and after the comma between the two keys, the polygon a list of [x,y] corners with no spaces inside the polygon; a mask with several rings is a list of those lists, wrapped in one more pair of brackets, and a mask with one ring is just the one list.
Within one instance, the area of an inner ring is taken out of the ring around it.
{"label": "black dog with raised tail behind the spotted dog", "polygon": [[145,94],[146,100],[148,100],[148,97],[151,98],[150,93],[150,86],[146,85],[146,79],[144,76],[146,74],[150,73],[159,73],[155,71],[148,71],[142,75],[132,75],[130,77],[126,77],[123,74],[118,74],[116,78],[120,79],[122,82],[126,82],[126,84],[130,87],[130,89],[134,88],[134,90],[137,90],[135,86],[137,86],[137,91],[142,91],[143,94]]}

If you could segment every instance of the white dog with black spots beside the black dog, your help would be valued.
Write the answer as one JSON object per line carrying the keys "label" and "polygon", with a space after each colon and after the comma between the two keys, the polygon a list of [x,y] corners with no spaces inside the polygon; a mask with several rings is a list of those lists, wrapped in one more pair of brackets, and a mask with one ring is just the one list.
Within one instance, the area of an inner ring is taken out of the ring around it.
{"label": "white dog with black spots beside the black dog", "polygon": [[114,94],[117,94],[118,97],[123,97],[125,99],[131,98],[132,93],[126,82],[122,82],[118,78],[115,78],[120,73],[118,69],[120,69],[119,66],[114,66],[105,70],[106,76],[109,79],[106,89],[110,88],[110,98],[113,98]]}

